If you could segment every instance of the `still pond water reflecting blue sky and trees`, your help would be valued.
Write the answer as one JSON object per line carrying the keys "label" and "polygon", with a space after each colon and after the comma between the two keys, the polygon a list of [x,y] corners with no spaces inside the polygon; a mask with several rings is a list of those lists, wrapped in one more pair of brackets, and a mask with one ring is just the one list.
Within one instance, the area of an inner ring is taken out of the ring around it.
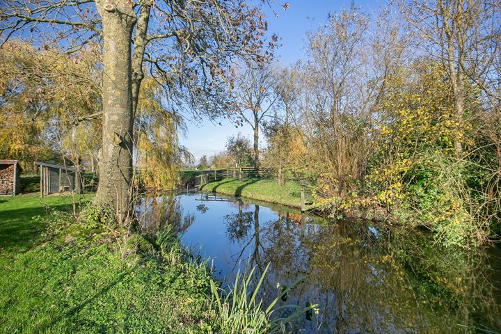
{"label": "still pond water reflecting blue sky and trees", "polygon": [[270,264],[265,300],[301,279],[283,304],[319,307],[294,333],[501,332],[499,248],[450,250],[417,230],[206,193],[145,198],[141,212],[146,232],[171,225],[218,280]]}

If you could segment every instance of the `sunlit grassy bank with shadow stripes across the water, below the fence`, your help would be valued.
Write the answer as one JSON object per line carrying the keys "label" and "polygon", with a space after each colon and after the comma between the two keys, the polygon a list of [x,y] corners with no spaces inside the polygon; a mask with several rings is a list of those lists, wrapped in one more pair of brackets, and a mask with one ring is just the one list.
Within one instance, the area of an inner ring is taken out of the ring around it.
{"label": "sunlit grassy bank with shadow stripes across the water, below the fence", "polygon": [[[202,191],[223,193],[229,196],[242,196],[301,208],[301,186],[292,181],[287,181],[283,186],[278,186],[276,180],[257,177],[244,179],[243,182],[239,182],[238,179],[225,179],[205,184]],[[311,198],[307,195],[306,202],[310,201]]]}

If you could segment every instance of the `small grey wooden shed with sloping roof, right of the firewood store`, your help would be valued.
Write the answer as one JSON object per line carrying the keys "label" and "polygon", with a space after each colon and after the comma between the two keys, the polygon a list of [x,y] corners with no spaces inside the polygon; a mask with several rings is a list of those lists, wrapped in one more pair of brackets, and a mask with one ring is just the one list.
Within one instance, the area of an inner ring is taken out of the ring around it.
{"label": "small grey wooden shed with sloping roof, right of the firewood store", "polygon": [[35,161],[35,166],[40,166],[41,196],[63,191],[81,192],[81,177],[75,168],[40,161]]}

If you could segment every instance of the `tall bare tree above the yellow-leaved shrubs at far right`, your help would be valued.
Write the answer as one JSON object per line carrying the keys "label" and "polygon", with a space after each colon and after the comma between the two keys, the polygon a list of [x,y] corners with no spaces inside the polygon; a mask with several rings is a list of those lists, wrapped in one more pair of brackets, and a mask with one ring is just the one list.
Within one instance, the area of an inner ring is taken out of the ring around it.
{"label": "tall bare tree above the yellow-leaved shrubs at far right", "polygon": [[[499,45],[499,1],[438,0],[401,1],[401,13],[422,37],[429,55],[447,68],[454,94],[458,131],[454,138],[457,157],[463,154],[463,124],[470,112],[466,103],[468,79],[484,90],[489,100],[500,98],[495,51]],[[498,8],[496,10],[496,8]],[[497,12],[497,13],[496,13]],[[497,73],[496,73],[497,72]]]}

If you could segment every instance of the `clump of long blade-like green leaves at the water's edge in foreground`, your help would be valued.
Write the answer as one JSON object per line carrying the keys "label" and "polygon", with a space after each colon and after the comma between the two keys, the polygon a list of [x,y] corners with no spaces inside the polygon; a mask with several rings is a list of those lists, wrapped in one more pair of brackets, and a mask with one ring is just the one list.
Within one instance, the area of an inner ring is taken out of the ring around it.
{"label": "clump of long blade-like green leaves at the water's edge in foreground", "polygon": [[[255,267],[249,270],[248,264],[243,273],[240,270],[237,271],[234,283],[228,289],[221,289],[212,281],[213,307],[217,318],[215,322],[219,327],[217,333],[285,333],[287,324],[291,324],[292,321],[316,307],[316,305],[309,305],[305,308],[299,308],[296,305],[277,306],[297,282],[287,289],[280,289],[276,298],[269,305],[264,305],[262,298],[258,299],[257,295],[268,267],[269,264],[255,286],[252,286]],[[286,317],[275,316],[279,310],[284,309],[294,311]]]}

